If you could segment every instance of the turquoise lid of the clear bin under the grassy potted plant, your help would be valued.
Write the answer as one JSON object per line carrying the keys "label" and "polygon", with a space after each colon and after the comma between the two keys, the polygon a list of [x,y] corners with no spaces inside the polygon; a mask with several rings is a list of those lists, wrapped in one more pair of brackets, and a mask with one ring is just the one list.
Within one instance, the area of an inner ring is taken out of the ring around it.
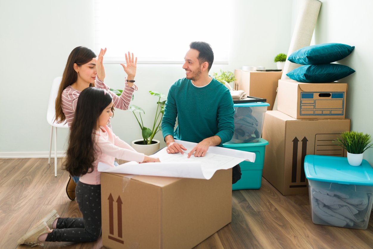
{"label": "turquoise lid of the clear bin under the grassy potted plant", "polygon": [[309,180],[373,186],[373,168],[364,159],[360,166],[351,166],[344,157],[307,155],[304,173]]}

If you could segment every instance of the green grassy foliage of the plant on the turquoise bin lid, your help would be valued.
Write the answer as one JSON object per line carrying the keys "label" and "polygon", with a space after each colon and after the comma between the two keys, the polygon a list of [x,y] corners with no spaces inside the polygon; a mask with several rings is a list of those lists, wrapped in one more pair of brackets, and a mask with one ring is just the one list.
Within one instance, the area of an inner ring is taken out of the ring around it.
{"label": "green grassy foliage of the plant on the turquoise bin lid", "polygon": [[356,131],[344,131],[341,137],[333,140],[333,143],[346,149],[348,153],[361,154],[373,147],[372,137],[369,134]]}

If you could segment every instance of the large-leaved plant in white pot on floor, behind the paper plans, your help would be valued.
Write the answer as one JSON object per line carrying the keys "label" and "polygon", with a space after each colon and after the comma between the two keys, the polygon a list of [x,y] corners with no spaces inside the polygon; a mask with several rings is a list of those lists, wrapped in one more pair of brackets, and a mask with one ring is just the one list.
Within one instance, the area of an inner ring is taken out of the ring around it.
{"label": "large-leaved plant in white pot on floor, behind the paper plans", "polygon": [[[122,93],[122,90],[113,90],[113,89],[110,89],[110,90],[113,93],[117,94],[118,96],[120,96],[120,94]],[[149,93],[151,95],[154,95],[154,96],[158,97],[157,109],[156,109],[155,116],[154,116],[153,126],[151,126],[151,128],[145,127],[143,122],[142,122],[141,113],[145,114],[144,109],[142,109],[141,107],[136,106],[136,105],[130,105],[129,106],[129,111],[134,113],[135,118],[136,118],[138,124],[140,125],[141,135],[142,135],[141,139],[137,139],[137,140],[132,141],[131,146],[137,152],[144,153],[145,155],[151,155],[154,152],[156,152],[157,150],[159,150],[160,141],[156,140],[156,139],[153,139],[153,138],[158,133],[158,131],[160,131],[160,124],[161,124],[163,113],[164,113],[164,105],[166,103],[166,100],[160,101],[160,99],[161,98],[162,99],[167,98],[166,95],[164,95],[163,93],[159,93],[157,91],[149,91]],[[134,99],[134,96],[132,95],[132,100],[133,99]],[[139,114],[136,115],[136,112],[138,112]]]}

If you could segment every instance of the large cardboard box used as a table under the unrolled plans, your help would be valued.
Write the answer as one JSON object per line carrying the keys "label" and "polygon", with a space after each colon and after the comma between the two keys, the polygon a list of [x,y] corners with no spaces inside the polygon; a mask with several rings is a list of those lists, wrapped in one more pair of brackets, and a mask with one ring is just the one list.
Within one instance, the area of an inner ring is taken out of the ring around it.
{"label": "large cardboard box used as a table under the unrolled plans", "polygon": [[232,219],[232,169],[210,180],[101,173],[107,248],[193,248]]}

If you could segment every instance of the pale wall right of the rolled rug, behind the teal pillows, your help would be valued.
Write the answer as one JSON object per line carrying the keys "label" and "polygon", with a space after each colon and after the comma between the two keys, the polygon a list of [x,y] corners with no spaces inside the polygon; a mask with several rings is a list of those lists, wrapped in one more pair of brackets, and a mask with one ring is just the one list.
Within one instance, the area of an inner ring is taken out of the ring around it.
{"label": "pale wall right of the rolled rug, behind the teal pillows", "polygon": [[[338,63],[356,72],[344,79],[348,83],[346,118],[351,119],[351,130],[373,136],[373,1],[322,0],[315,28],[315,43],[344,43],[355,46],[354,51]],[[373,149],[364,153],[373,165]]]}

